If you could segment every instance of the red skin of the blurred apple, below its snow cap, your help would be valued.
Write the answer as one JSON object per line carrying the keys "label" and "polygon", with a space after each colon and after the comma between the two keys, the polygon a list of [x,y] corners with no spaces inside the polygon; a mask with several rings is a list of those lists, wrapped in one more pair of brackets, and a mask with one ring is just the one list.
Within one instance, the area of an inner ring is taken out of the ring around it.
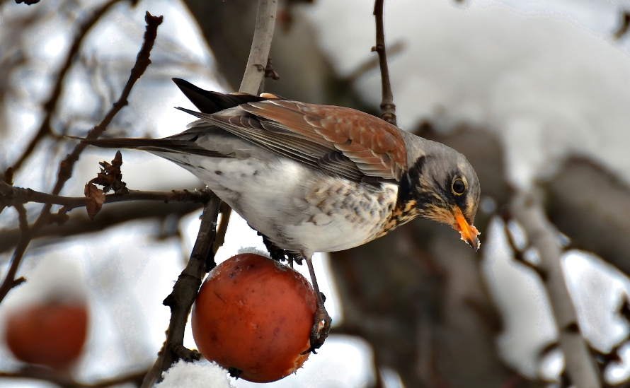
{"label": "red skin of the blurred apple, below its snow cap", "polygon": [[4,338],[18,360],[68,370],[81,355],[87,331],[85,305],[46,302],[11,312]]}

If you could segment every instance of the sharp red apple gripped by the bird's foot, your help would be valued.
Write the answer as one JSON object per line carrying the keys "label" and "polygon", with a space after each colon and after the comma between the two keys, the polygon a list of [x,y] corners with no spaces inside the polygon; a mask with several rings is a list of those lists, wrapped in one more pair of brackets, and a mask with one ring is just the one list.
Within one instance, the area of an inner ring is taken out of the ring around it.
{"label": "sharp red apple gripped by the bird's foot", "polygon": [[288,266],[238,254],[215,267],[193,306],[193,337],[207,360],[241,370],[240,378],[273,382],[309,357],[316,310],[313,288]]}

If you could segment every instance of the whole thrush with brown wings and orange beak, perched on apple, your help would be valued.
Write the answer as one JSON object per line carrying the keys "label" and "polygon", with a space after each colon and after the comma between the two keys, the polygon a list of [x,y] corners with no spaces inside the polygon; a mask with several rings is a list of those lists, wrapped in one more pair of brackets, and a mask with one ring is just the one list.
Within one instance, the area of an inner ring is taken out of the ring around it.
{"label": "whole thrush with brown wings and orange beak, perched on apple", "polygon": [[197,117],[185,131],[82,141],[171,160],[273,245],[306,259],[317,301],[309,351],[323,344],[332,322],[315,252],[363,245],[416,217],[451,225],[479,249],[473,223],[481,186],[462,153],[348,107],[173,82],[199,110],[177,108]]}

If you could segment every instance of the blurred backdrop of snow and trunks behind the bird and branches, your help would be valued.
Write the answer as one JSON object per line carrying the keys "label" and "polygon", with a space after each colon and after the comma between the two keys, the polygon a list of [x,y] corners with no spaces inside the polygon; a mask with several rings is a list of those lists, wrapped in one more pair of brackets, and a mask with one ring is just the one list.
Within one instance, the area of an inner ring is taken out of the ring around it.
{"label": "blurred backdrop of snow and trunks behind the bird and branches", "polygon": [[[153,62],[104,136],[163,137],[193,121],[171,82],[238,88],[253,35],[253,0],[113,1],[88,30],[62,79],[50,130],[44,106],[79,25],[112,1],[0,1],[0,170],[50,192],[59,161],[118,99],[144,33],[164,15]],[[379,114],[373,4],[280,0],[270,57],[286,98]],[[385,4],[399,127],[466,155],[481,180],[475,253],[449,226],[413,221],[386,237],[316,257],[333,334],[297,374],[270,387],[563,387],[564,356],[539,254],[506,216],[517,190],[535,190],[566,249],[563,274],[579,329],[607,386],[630,380],[630,1],[391,0]],[[33,142],[33,152],[26,153]],[[62,191],[83,196],[98,162],[88,148]],[[122,153],[130,189],[202,184],[148,153]],[[26,204],[33,222],[41,205]],[[53,210],[58,209],[53,208]],[[200,204],[105,204],[47,225],[0,305],[6,317],[53,292],[79,295],[88,339],[71,370],[92,384],[147,370],[170,312],[161,301],[190,255]],[[0,213],[0,273],[20,236],[14,208]],[[240,247],[264,249],[233,214],[217,262]],[[307,274],[306,268],[301,268]],[[195,348],[190,331],[185,345]],[[0,339],[2,387],[54,387],[3,377],[27,370]],[[236,387],[255,384],[231,380]],[[132,386],[134,382],[127,383]]]}

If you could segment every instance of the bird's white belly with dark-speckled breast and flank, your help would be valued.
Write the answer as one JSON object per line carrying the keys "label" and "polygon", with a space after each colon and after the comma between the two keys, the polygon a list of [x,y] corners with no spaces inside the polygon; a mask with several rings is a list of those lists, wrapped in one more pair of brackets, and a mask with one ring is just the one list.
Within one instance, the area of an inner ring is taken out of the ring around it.
{"label": "bird's white belly with dark-speckled breast and flank", "polygon": [[379,234],[396,204],[395,184],[381,190],[348,184],[285,158],[156,154],[193,172],[252,228],[293,252],[362,245]]}

